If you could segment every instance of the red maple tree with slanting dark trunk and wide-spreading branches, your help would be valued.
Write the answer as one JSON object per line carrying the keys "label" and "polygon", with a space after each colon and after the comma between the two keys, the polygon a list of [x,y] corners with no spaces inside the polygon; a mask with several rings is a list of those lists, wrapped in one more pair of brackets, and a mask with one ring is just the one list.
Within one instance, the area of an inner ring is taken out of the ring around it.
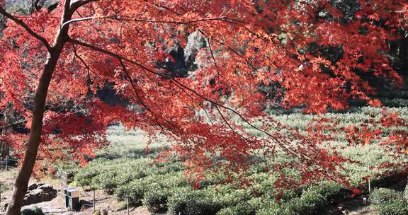
{"label": "red maple tree with slanting dark trunk and wide-spreading branches", "polygon": [[[327,0],[65,0],[28,16],[1,6],[8,21],[0,40],[0,106],[12,103],[30,129],[29,136],[4,137],[26,150],[6,214],[20,213],[39,146],[39,158],[63,150],[81,158],[105,143],[114,122],[176,140],[174,149],[194,170],[212,165],[213,155],[246,163],[283,151],[295,161],[280,165],[301,170],[302,182],[342,180],[336,168],[344,158],[263,109],[279,103],[321,113],[347,108],[349,98],[380,105],[359,73],[401,84],[385,53],[386,42],[407,27],[406,1],[356,4],[350,12]],[[191,33],[205,41],[197,68],[180,76],[160,66],[174,60],[165,50],[185,47]],[[325,57],[325,49],[340,57]],[[94,96],[107,83],[138,111]]]}

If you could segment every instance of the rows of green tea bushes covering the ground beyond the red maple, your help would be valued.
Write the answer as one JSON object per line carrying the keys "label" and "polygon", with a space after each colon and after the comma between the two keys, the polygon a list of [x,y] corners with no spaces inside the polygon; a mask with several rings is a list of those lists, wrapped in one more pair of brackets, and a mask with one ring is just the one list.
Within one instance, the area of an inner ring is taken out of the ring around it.
{"label": "rows of green tea bushes covering the ground beyond the red maple", "polygon": [[[408,108],[388,108],[398,112],[401,117],[408,117]],[[353,108],[348,112],[327,113],[339,122],[339,127],[358,125],[368,120],[372,115],[380,115],[381,108]],[[276,120],[299,129],[305,129],[306,124],[316,115],[304,115],[292,112],[273,112]],[[252,131],[255,135],[256,131]],[[104,190],[113,194],[118,200],[128,199],[130,204],[144,204],[150,211],[168,211],[168,214],[238,214],[238,215],[285,215],[285,214],[316,214],[331,201],[342,199],[351,194],[341,185],[334,182],[319,182],[306,185],[296,190],[276,190],[274,182],[276,175],[265,172],[263,165],[254,165],[246,174],[250,183],[242,186],[237,183],[225,183],[222,172],[208,170],[207,178],[201,181],[199,189],[193,187],[185,177],[181,161],[174,159],[166,163],[154,162],[154,155],[167,144],[153,143],[146,151],[146,139],[140,131],[125,131],[123,127],[112,126],[109,130],[111,145],[101,151],[97,158],[79,169],[76,164],[60,165],[64,170],[74,175],[73,185],[86,189]],[[164,140],[165,141],[165,140]],[[387,169],[371,169],[384,162],[397,163],[401,158],[391,158],[384,149],[375,144],[347,146],[344,136],[338,136],[330,143],[344,146],[341,154],[353,158],[358,163],[347,163],[343,173],[348,176],[352,185],[361,185],[365,190],[367,181],[365,175],[373,175],[372,183],[380,182],[382,178],[375,176]],[[293,173],[296,174],[296,173]],[[386,203],[381,200],[382,190],[376,190],[373,204],[381,207],[392,207],[397,212],[379,210],[380,214],[408,214],[407,202],[403,194]],[[406,191],[408,193],[408,191]],[[280,199],[276,196],[281,195]],[[387,194],[385,194],[387,195]],[[389,194],[390,195],[390,194]],[[407,195],[407,194],[406,194]],[[375,200],[380,199],[380,200]],[[392,204],[392,206],[389,206]]]}

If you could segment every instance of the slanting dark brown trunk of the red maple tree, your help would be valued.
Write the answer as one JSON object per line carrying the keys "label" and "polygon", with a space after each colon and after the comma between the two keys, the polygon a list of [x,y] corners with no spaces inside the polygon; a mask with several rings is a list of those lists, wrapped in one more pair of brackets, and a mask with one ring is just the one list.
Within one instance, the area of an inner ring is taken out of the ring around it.
{"label": "slanting dark brown trunk of the red maple tree", "polygon": [[[62,13],[61,26],[72,18],[72,10],[70,10],[70,0],[65,0],[64,12]],[[47,99],[48,87],[52,79],[52,74],[57,66],[58,59],[68,40],[69,24],[60,28],[55,36],[54,43],[47,54],[47,61],[38,82],[37,90],[35,91],[33,120],[31,122],[30,136],[24,156],[21,170],[18,172],[16,182],[13,186],[13,194],[8,204],[6,215],[19,215],[23,206],[23,200],[27,192],[28,181],[30,180],[35,160],[37,158],[38,147],[40,146],[40,137],[42,133],[42,119],[44,117],[45,101]]]}

